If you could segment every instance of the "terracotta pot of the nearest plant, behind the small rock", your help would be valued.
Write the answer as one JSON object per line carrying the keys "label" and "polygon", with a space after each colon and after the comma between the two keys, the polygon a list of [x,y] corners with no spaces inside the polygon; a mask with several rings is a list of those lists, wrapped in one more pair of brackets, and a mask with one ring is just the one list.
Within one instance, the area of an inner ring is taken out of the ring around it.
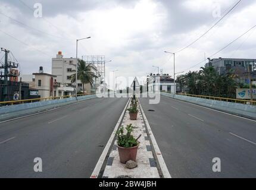
{"label": "terracotta pot of the nearest plant, behind the small rock", "polygon": [[125,164],[129,160],[133,160],[134,162],[136,162],[139,144],[136,145],[136,147],[132,147],[132,148],[124,148],[118,145],[117,147],[118,147],[118,153],[119,153],[121,163]]}

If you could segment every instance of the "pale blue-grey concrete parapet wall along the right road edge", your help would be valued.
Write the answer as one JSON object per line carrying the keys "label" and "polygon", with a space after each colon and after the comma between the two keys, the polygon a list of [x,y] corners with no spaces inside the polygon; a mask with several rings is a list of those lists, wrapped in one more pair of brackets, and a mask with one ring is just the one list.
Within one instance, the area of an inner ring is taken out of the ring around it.
{"label": "pale blue-grey concrete parapet wall along the right road edge", "polygon": [[224,102],[219,100],[209,100],[209,99],[202,99],[198,97],[190,97],[190,96],[183,96],[183,95],[174,95],[170,93],[161,93],[161,95],[171,97],[177,100],[182,100],[184,102],[193,103],[195,105],[219,110],[221,112],[226,112],[233,115],[242,116],[244,118],[256,120],[256,106],[253,106],[253,105]]}

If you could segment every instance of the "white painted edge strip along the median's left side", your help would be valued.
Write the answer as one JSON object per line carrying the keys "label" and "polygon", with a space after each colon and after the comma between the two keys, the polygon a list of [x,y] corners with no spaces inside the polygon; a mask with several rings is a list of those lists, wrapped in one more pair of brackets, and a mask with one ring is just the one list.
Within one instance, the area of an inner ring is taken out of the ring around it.
{"label": "white painted edge strip along the median's left side", "polygon": [[99,172],[101,172],[101,167],[105,161],[105,158],[107,157],[108,151],[110,150],[110,146],[113,143],[113,140],[115,138],[115,133],[117,132],[118,127],[121,124],[121,121],[123,119],[124,113],[126,112],[128,103],[129,103],[130,99],[128,100],[128,102],[126,103],[126,106],[124,107],[123,112],[121,113],[120,118],[118,119],[117,125],[115,125],[114,131],[112,132],[110,139],[108,140],[108,143],[105,145],[105,148],[101,154],[101,157],[99,157],[98,162],[96,163],[96,166],[92,172],[92,175],[90,175],[90,178],[98,178],[99,176]]}

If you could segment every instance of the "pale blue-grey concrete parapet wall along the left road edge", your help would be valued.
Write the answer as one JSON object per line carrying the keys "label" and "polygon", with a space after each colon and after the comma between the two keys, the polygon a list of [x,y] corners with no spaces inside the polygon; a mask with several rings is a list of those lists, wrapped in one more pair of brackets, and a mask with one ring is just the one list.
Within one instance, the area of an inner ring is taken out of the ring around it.
{"label": "pale blue-grey concrete parapet wall along the left road edge", "polygon": [[43,112],[45,110],[54,109],[61,106],[67,106],[73,103],[96,98],[96,94],[90,94],[86,96],[79,96],[77,97],[77,99],[76,97],[70,97],[58,100],[48,100],[42,102],[24,103],[20,105],[2,106],[0,107],[0,121],[6,121],[8,119],[31,115],[34,113]]}

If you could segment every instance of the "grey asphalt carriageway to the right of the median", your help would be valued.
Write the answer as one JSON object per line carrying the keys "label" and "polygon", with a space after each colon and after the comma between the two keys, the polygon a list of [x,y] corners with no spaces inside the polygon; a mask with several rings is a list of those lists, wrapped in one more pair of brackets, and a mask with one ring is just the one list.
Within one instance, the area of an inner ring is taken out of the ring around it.
{"label": "grey asphalt carriageway to the right of the median", "polygon": [[164,96],[140,102],[172,178],[256,178],[255,121]]}

